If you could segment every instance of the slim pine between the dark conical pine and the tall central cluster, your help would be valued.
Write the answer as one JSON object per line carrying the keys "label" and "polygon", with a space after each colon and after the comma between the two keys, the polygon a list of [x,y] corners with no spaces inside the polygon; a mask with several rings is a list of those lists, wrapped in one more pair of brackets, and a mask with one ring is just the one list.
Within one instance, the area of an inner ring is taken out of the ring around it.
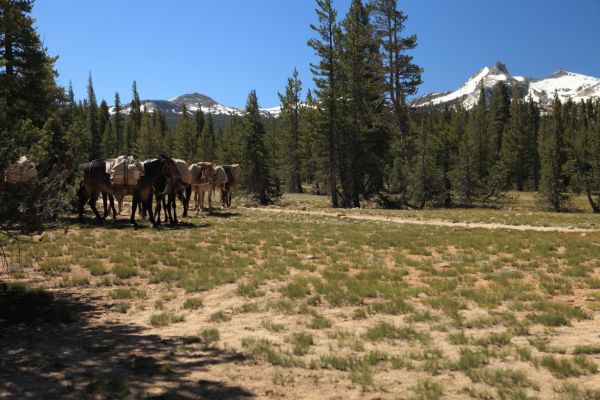
{"label": "slim pine between the dark conical pine and the tall central cluster", "polygon": [[300,170],[300,96],[302,82],[298,79],[298,70],[294,68],[288,78],[285,94],[278,93],[281,102],[281,125],[287,144],[287,190],[290,193],[302,193]]}

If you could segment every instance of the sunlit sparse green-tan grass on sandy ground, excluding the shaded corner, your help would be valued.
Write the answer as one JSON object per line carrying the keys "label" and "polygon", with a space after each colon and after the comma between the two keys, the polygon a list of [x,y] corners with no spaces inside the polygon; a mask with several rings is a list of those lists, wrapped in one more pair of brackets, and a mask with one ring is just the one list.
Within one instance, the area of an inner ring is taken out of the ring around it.
{"label": "sunlit sparse green-tan grass on sandy ground, excluding the shaded corner", "polygon": [[[308,195],[284,203],[325,207]],[[349,212],[600,224],[591,214],[524,212],[527,207],[521,204],[521,215]],[[48,289],[104,293],[112,306],[108,318],[244,353],[259,369],[277,368],[261,375],[265,387],[306,384],[315,398],[348,387],[424,399],[561,398],[600,390],[600,339],[593,328],[600,232],[396,225],[243,208],[188,222],[197,226],[75,226],[23,249],[22,265],[30,281]],[[198,334],[207,324],[219,329]],[[310,383],[314,370],[340,383]],[[398,384],[394,371],[412,383]],[[581,377],[587,378],[576,381]],[[107,382],[90,382],[90,392],[109,390]],[[132,386],[129,381],[127,389]]]}

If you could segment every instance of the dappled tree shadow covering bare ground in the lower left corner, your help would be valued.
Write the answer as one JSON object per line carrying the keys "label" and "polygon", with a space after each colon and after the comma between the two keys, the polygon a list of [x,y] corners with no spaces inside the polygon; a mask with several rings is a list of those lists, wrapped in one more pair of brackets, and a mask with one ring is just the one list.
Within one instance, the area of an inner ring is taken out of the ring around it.
{"label": "dappled tree shadow covering bare ground in the lower left corner", "polygon": [[189,378],[211,365],[241,363],[240,354],[196,337],[164,339],[138,326],[94,322],[109,307],[100,300],[0,283],[0,398],[254,397],[239,386]]}

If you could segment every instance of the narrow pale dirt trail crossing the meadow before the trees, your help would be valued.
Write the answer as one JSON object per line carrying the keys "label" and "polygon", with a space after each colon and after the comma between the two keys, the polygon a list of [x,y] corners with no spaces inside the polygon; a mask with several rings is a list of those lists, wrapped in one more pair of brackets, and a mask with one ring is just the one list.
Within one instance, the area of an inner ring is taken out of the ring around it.
{"label": "narrow pale dirt trail crossing the meadow before the trees", "polygon": [[343,211],[324,212],[324,211],[302,211],[302,210],[287,210],[282,208],[258,208],[248,207],[248,210],[280,213],[280,214],[299,214],[299,215],[312,215],[318,217],[331,217],[331,218],[348,218],[361,221],[378,221],[378,222],[392,222],[396,224],[409,224],[409,225],[429,225],[429,226],[446,226],[451,228],[480,228],[480,229],[508,229],[514,231],[534,231],[534,232],[564,232],[564,233],[591,233],[600,232],[600,229],[585,229],[575,227],[560,227],[560,226],[535,226],[535,225],[508,225],[498,224],[489,222],[452,222],[445,221],[442,219],[416,219],[416,218],[402,218],[402,217],[385,217],[381,215],[357,215],[345,213]]}

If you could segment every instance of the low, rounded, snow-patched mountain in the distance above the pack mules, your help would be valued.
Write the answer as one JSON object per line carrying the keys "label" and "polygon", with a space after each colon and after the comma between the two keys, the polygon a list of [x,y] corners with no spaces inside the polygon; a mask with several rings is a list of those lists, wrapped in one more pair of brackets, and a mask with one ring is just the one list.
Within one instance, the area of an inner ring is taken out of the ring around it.
{"label": "low, rounded, snow-patched mountain in the distance above the pack mules", "polygon": [[[174,124],[178,116],[181,115],[184,104],[189,114],[193,114],[197,110],[202,110],[204,114],[212,114],[217,127],[223,126],[227,118],[233,115],[244,115],[244,110],[219,104],[213,98],[201,93],[188,93],[170,100],[142,100],[142,108],[146,107],[150,112],[161,110],[170,124]],[[114,106],[109,111],[114,114]],[[130,111],[131,104],[128,103],[122,106],[123,114],[129,114]],[[260,112],[264,117],[278,118],[281,110],[279,107],[273,107],[261,109]]]}

